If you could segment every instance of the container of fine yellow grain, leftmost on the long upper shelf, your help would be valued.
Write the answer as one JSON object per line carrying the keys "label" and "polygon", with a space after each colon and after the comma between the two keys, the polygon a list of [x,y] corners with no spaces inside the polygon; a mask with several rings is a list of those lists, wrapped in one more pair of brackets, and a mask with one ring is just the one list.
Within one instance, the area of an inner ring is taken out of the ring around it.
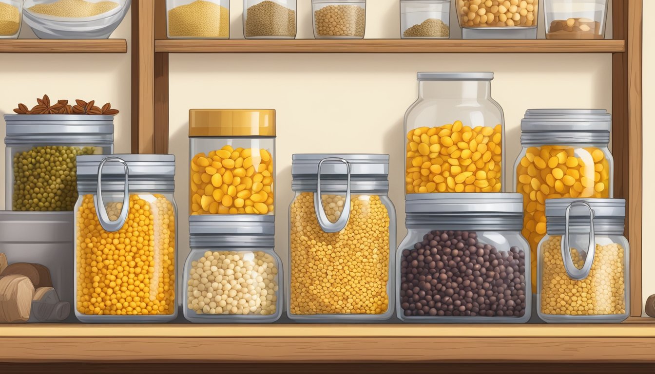
{"label": "container of fine yellow grain, leftmost on the long upper shelf", "polygon": [[169,39],[229,39],[229,0],[166,0]]}

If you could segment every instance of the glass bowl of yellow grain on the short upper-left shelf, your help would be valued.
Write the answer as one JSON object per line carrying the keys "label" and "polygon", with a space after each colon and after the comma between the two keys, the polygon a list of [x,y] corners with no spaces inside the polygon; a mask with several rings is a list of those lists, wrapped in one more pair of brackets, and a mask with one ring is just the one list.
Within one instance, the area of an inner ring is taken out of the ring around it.
{"label": "glass bowl of yellow grain on the short upper-left shelf", "polygon": [[107,39],[132,0],[26,0],[25,22],[41,39]]}

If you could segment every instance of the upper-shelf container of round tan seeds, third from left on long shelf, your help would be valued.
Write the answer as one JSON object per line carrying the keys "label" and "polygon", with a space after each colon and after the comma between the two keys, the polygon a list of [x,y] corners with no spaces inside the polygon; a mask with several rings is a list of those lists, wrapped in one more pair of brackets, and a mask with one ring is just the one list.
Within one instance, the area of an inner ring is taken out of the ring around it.
{"label": "upper-shelf container of round tan seeds, third from left on long shelf", "polygon": [[312,0],[316,39],[364,39],[366,0]]}

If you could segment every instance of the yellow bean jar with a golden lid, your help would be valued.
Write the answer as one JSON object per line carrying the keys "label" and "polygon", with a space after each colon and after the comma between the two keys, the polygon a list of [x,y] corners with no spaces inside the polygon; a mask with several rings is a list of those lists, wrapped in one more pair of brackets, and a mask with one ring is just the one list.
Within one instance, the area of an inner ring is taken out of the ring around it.
{"label": "yellow bean jar with a golden lid", "polygon": [[189,206],[196,214],[274,214],[275,111],[189,111]]}

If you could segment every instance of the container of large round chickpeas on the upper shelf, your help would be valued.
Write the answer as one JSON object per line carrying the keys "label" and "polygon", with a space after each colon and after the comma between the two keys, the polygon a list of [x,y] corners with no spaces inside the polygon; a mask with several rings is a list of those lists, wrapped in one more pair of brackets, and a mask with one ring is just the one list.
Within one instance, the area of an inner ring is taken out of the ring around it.
{"label": "container of large round chickpeas on the upper shelf", "polygon": [[457,0],[462,39],[536,39],[539,0]]}

